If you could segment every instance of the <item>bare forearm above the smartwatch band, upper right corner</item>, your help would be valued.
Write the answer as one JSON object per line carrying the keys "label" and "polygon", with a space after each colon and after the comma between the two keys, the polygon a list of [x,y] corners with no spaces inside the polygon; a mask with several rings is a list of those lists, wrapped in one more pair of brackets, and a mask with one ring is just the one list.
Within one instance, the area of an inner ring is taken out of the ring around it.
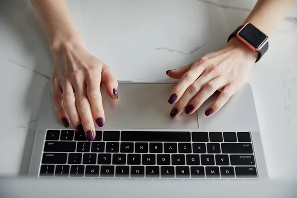
{"label": "bare forearm above the smartwatch band, upper right corner", "polygon": [[283,20],[296,0],[258,0],[244,24],[251,23],[268,36]]}

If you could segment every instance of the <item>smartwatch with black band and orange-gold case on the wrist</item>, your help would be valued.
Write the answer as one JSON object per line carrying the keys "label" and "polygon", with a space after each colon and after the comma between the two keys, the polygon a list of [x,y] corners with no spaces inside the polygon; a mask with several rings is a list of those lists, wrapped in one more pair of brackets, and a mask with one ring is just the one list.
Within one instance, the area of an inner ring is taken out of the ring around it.
{"label": "smartwatch with black band and orange-gold case on the wrist", "polygon": [[262,55],[268,49],[268,36],[253,26],[251,23],[239,26],[228,38],[228,42],[233,37],[237,37],[238,40],[247,45],[248,48],[257,51],[258,57],[255,62],[260,60]]}

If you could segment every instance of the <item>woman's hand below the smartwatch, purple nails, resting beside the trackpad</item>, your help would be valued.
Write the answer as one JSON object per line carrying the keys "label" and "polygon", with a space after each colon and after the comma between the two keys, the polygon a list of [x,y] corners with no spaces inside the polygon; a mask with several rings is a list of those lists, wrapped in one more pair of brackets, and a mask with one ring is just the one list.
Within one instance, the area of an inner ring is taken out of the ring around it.
{"label": "woman's hand below the smartwatch, purple nails, resting beside the trackpad", "polygon": [[226,47],[208,53],[194,63],[168,70],[169,77],[180,79],[168,100],[170,104],[174,103],[170,116],[176,117],[183,110],[192,114],[219,90],[220,95],[206,108],[205,115],[217,112],[243,86],[257,55],[256,51],[233,38]]}

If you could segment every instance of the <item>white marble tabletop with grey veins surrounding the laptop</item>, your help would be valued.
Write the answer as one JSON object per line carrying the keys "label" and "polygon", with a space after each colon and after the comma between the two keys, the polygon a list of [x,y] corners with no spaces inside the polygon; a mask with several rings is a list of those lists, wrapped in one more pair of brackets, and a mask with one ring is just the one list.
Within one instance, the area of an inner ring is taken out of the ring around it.
{"label": "white marble tabletop with grey veins surrounding the laptop", "polygon": [[[68,0],[91,53],[118,80],[168,80],[177,68],[219,49],[255,0]],[[297,5],[250,71],[268,173],[296,177]],[[52,58],[31,5],[0,2],[0,175],[28,168]],[[210,118],[211,119],[211,118]]]}

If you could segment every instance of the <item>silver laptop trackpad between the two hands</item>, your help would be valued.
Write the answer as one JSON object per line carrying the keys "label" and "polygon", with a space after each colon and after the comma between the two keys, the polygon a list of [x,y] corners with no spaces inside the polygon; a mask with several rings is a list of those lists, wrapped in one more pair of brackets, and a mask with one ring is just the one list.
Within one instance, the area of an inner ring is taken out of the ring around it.
{"label": "silver laptop trackpad between the two hands", "polygon": [[119,99],[110,99],[102,88],[103,128],[198,129],[197,112],[171,118],[169,95],[175,84],[119,83]]}

